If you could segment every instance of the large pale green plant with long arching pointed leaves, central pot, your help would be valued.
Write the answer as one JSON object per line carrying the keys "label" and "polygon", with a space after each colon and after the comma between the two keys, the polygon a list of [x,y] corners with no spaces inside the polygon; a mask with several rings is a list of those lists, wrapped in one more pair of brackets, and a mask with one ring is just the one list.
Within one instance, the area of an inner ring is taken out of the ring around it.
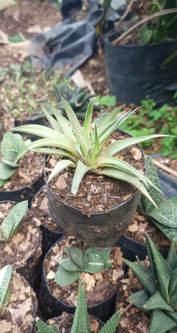
{"label": "large pale green plant with long arching pointed leaves, central pot", "polygon": [[[49,105],[56,117],[56,120],[43,107],[42,110],[53,129],[41,125],[24,125],[12,129],[13,131],[31,133],[44,138],[26,145],[18,154],[14,164],[16,164],[28,151],[63,156],[66,159],[62,159],[57,162],[49,176],[48,182],[50,182],[50,180],[60,171],[70,166],[75,169],[71,187],[71,193],[74,195],[77,193],[79,184],[84,174],[92,171],[96,174],[121,179],[133,184],[156,206],[155,202],[150,197],[145,186],[140,180],[142,180],[145,184],[154,186],[158,191],[160,190],[153,185],[144,174],[137,171],[128,163],[114,158],[113,156],[129,146],[136,145],[148,139],[161,137],[163,135],[157,134],[139,138],[128,138],[116,141],[105,148],[105,143],[110,135],[127,118],[134,114],[134,111],[127,112],[124,115],[117,117],[118,112],[125,105],[118,107],[110,112],[98,126],[95,124],[95,129],[90,134],[93,99],[89,103],[83,127],[79,124],[71,106],[63,97],[61,97],[61,99],[69,121],[64,118],[49,101]],[[61,149],[43,148],[45,146],[52,146]],[[103,147],[105,149],[103,149]],[[99,167],[102,168],[98,169]]]}

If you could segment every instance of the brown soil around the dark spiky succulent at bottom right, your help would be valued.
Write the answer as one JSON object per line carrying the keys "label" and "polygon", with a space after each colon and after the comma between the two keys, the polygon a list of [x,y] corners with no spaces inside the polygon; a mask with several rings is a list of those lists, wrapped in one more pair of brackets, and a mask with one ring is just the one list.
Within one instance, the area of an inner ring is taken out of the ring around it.
{"label": "brown soil around the dark spiky succulent at bottom right", "polygon": [[[149,267],[147,258],[141,262],[147,268]],[[127,300],[128,296],[144,287],[130,268],[127,274],[127,278],[122,280],[123,285],[117,295],[117,311],[122,312],[120,330],[122,333],[148,333],[150,318]]]}

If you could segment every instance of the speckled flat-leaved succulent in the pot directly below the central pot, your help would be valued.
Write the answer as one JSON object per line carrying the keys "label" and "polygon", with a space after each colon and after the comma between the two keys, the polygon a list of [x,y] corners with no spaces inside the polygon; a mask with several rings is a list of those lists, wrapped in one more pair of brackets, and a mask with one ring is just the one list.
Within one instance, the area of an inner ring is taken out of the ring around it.
{"label": "speckled flat-leaved succulent in the pot directly below the central pot", "polygon": [[110,248],[105,251],[89,247],[81,251],[76,247],[65,246],[68,257],[58,261],[60,267],[55,273],[55,281],[66,287],[79,279],[80,272],[95,273],[111,266]]}

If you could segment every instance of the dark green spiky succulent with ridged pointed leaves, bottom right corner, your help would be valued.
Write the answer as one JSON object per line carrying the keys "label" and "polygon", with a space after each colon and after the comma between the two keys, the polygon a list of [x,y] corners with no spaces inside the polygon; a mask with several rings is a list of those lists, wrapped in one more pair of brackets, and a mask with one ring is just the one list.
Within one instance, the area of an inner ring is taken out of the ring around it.
{"label": "dark green spiky succulent with ridged pointed leaves, bottom right corner", "polygon": [[165,260],[152,240],[145,238],[150,270],[138,257],[137,263],[124,259],[144,286],[128,300],[142,311],[151,311],[148,333],[165,333],[177,329],[177,254],[172,242]]}

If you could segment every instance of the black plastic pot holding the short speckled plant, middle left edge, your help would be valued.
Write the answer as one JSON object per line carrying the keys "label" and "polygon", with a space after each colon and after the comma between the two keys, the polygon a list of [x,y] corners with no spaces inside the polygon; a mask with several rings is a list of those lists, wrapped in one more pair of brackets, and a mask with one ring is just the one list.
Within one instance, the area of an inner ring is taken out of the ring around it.
{"label": "black plastic pot holding the short speckled plant, middle left edge", "polygon": [[[11,201],[11,200],[4,200],[4,201],[0,201],[1,203],[6,203],[7,201],[9,201],[10,203],[15,203],[17,204],[17,202],[15,201]],[[29,209],[29,208],[28,208]],[[39,229],[39,238],[38,238],[38,242],[37,245],[35,247],[35,250],[37,250],[40,246],[41,243],[41,232],[40,232],[40,227],[38,227]],[[42,258],[40,257],[38,261],[35,261],[35,252],[33,252],[28,258],[26,258],[24,260],[24,264],[21,266],[18,266],[16,268],[16,272],[19,273],[20,275],[22,275],[24,277],[24,279],[28,280],[30,283],[30,286],[34,289],[36,287],[38,287],[41,283],[41,274],[42,274]]]}

